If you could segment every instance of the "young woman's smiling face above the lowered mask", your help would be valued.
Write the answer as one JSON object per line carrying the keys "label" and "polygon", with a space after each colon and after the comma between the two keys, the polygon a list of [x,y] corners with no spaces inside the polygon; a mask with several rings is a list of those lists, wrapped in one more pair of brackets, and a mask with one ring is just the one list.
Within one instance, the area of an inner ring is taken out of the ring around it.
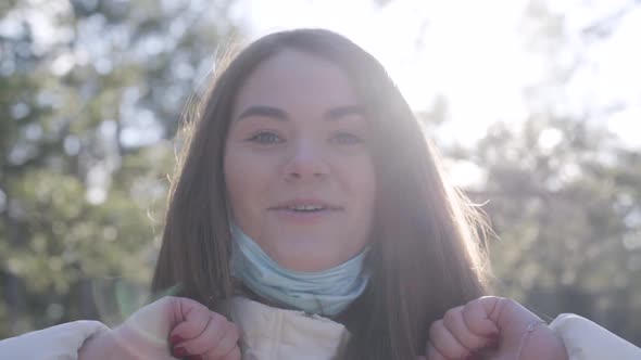
{"label": "young woman's smiling face above the lowered mask", "polygon": [[238,93],[226,142],[235,223],[291,270],[349,260],[372,228],[369,138],[364,106],[339,67],[293,50],[263,62]]}

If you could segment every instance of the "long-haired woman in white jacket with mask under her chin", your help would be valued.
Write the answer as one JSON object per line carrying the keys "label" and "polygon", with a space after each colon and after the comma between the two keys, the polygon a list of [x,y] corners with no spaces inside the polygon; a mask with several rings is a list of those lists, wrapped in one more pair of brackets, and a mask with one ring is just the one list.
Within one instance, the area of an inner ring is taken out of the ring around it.
{"label": "long-haired woman in white jacket with mask under her chin", "polygon": [[198,113],[152,284],[178,297],[8,351],[55,333],[80,359],[596,359],[575,338],[592,332],[608,357],[640,353],[585,319],[546,326],[482,297],[479,215],[385,69],[341,36],[257,40]]}

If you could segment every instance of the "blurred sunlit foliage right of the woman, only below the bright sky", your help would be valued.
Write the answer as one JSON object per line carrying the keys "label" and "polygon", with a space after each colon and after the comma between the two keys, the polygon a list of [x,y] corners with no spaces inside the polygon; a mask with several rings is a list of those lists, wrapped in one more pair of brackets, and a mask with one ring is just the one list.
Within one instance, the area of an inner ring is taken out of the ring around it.
{"label": "blurred sunlit foliage right of the woman, only below the bright sky", "polygon": [[540,314],[575,312],[641,344],[641,155],[583,121],[493,126],[452,151],[486,175],[498,291]]}

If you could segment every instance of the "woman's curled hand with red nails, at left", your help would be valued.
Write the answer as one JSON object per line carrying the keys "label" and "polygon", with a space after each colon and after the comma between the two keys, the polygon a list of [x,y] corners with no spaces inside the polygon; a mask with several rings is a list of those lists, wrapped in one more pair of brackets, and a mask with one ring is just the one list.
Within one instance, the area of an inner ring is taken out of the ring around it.
{"label": "woman's curled hand with red nails, at left", "polygon": [[79,360],[240,360],[238,337],[235,324],[204,305],[163,297],[87,340],[78,355]]}

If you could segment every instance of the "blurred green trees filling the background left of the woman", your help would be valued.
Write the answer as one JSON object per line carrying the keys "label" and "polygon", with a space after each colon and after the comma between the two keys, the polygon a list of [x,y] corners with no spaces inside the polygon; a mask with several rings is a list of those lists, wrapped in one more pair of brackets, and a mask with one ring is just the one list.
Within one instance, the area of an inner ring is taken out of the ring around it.
{"label": "blurred green trees filling the background left of the woman", "polygon": [[237,34],[231,4],[0,5],[0,337],[116,321],[96,307],[115,300],[113,279],[147,286],[174,166],[166,139],[219,39]]}

